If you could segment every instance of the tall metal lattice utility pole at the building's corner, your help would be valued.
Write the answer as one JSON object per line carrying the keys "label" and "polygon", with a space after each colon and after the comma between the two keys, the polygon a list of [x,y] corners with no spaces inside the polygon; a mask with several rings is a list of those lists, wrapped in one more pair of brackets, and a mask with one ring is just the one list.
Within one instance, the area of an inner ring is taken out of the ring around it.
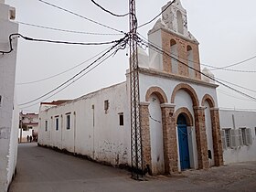
{"label": "tall metal lattice utility pole at the building's corner", "polygon": [[140,119],[140,91],[137,48],[137,19],[135,0],[129,0],[130,9],[130,91],[131,91],[131,157],[132,177],[143,177],[143,152]]}

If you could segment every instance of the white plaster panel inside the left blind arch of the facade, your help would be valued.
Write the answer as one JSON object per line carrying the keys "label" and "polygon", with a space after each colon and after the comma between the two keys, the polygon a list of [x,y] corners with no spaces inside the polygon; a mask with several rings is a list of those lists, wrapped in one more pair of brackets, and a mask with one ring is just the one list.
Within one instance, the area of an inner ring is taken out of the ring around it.
{"label": "white plaster panel inside the left blind arch of the facade", "polygon": [[150,96],[149,127],[152,154],[152,172],[165,174],[163,124],[160,101],[155,94]]}

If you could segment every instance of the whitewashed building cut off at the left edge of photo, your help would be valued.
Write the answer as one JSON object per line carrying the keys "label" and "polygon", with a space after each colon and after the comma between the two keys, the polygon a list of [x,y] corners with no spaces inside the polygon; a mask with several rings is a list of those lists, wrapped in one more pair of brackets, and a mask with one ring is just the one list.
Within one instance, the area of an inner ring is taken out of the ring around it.
{"label": "whitewashed building cut off at the left edge of photo", "polygon": [[[0,51],[10,50],[9,35],[17,33],[15,8],[0,0]],[[15,98],[16,47],[13,51],[0,53],[0,191],[7,188],[15,175],[17,155],[18,110]]]}

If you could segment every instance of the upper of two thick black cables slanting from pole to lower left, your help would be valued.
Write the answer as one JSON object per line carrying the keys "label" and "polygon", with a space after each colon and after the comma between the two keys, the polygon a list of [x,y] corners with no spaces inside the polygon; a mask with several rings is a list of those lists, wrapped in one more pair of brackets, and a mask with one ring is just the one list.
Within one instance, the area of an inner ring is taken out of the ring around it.
{"label": "upper of two thick black cables slanting from pole to lower left", "polygon": [[[69,80],[66,80],[65,82],[61,83],[57,88],[53,89],[52,91],[48,91],[47,93],[45,93],[44,95],[38,97],[37,99],[34,99],[32,101],[27,101],[25,103],[21,103],[19,104],[19,106],[23,106],[23,105],[27,105],[31,102],[40,100],[46,96],[48,96],[48,94],[59,90],[59,88],[63,87],[64,85],[66,85],[67,83],[69,83],[69,81],[74,80],[75,78],[77,78],[81,73],[83,73],[86,69],[91,68],[92,65],[94,65],[96,62],[98,62],[100,59],[104,58],[110,51],[112,51],[113,48],[117,48],[118,46],[125,46],[127,41],[127,35],[123,38],[121,38],[115,45],[112,46],[112,48],[109,48],[106,52],[104,52],[101,57],[99,57],[98,59],[95,59],[90,65],[88,65],[86,68],[80,70],[80,72],[78,72],[76,75],[74,75],[73,77],[71,77]],[[117,50],[116,50],[117,51]],[[114,53],[116,53],[116,51]]]}

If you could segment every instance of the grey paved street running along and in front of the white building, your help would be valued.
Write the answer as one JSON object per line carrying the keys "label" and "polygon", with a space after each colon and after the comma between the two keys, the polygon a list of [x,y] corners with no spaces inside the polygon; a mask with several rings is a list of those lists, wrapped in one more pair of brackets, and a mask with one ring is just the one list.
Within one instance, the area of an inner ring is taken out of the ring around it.
{"label": "grey paved street running along and in front of the white building", "polygon": [[64,155],[37,144],[19,144],[10,192],[255,191],[256,162],[188,170],[134,181],[126,170]]}

